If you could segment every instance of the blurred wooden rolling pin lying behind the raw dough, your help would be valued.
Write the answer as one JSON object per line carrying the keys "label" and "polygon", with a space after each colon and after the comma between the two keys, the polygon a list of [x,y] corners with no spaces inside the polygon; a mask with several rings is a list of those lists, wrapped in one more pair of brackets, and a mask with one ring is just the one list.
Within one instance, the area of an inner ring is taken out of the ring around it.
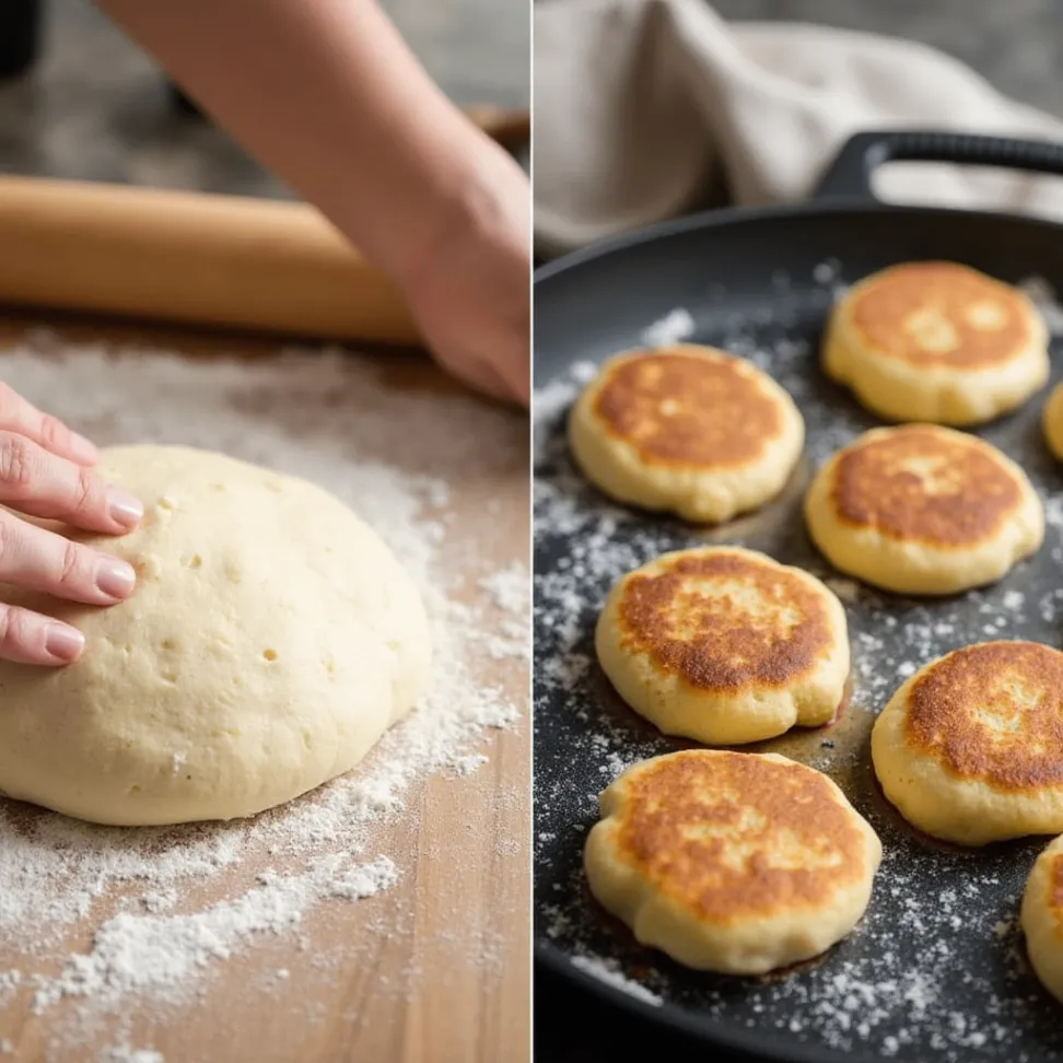
{"label": "blurred wooden rolling pin lying behind the raw dough", "polygon": [[[522,117],[470,108],[500,140]],[[417,343],[396,289],[305,203],[0,177],[0,303]]]}

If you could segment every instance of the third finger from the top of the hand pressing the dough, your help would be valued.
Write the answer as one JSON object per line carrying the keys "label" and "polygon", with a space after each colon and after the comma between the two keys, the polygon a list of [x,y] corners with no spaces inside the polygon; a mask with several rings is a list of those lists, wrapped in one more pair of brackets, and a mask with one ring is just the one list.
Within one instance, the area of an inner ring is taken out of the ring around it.
{"label": "third finger from the top of the hand pressing the dough", "polygon": [[132,594],[137,574],[118,558],[0,511],[0,583],[107,606]]}

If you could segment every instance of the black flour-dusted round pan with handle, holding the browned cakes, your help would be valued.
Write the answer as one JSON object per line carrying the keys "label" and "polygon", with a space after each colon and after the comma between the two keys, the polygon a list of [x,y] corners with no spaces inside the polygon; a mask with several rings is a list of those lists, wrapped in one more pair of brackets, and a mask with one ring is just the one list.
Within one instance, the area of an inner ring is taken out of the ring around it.
{"label": "black flour-dusted round pan with handle, holding the browned cakes", "polygon": [[[878,423],[819,371],[831,283],[852,282],[893,262],[949,259],[1016,283],[1037,276],[1063,292],[1063,225],[880,203],[871,176],[891,160],[1063,174],[1063,147],[1055,144],[931,132],[860,135],[806,205],[686,218],[570,255],[536,274],[537,397],[571,378],[579,362],[641,346],[647,325],[682,307],[693,319],[694,341],[759,351],[760,363],[795,394],[808,429],[806,460],[783,497],[762,514],[710,534],[659,515],[619,512],[574,475],[563,416],[554,411],[544,425],[537,413],[536,431],[545,428],[547,442],[536,478],[554,502],[559,493],[571,495],[571,505],[559,521],[546,501],[537,502],[536,957],[581,989],[644,1018],[762,1058],[977,1055],[1048,1063],[1063,1060],[1063,1011],[1030,974],[1014,921],[1044,840],[976,854],[928,845],[877,792],[866,749],[874,713],[904,674],[898,668],[990,636],[1060,645],[1063,594],[1055,587],[1063,566],[1063,507],[1052,506],[1063,476],[1041,440],[1041,398],[979,433],[1026,468],[1046,501],[1050,526],[1039,554],[1001,584],[945,601],[851,592],[845,605],[860,664],[854,704],[861,706],[853,719],[858,723],[863,713],[864,723],[854,724],[848,738],[839,733],[834,749],[819,733],[759,747],[830,771],[883,837],[890,856],[864,927],[789,981],[716,979],[640,947],[589,898],[580,869],[585,830],[596,818],[594,796],[616,772],[618,758],[630,762],[684,744],[661,736],[619,703],[593,663],[597,605],[622,566],[581,561],[586,575],[574,599],[551,593],[552,575],[571,573],[574,552],[582,550],[586,561],[588,541],[612,544],[630,568],[656,552],[709,539],[740,541],[829,576],[805,535],[801,494],[814,465]],[[585,674],[559,686],[559,668],[581,655],[591,662]],[[577,956],[584,960],[574,965]],[[588,972],[588,956],[597,973]],[[601,959],[629,980],[629,989],[601,979]],[[898,979],[896,1000],[881,981],[887,960]],[[862,981],[868,973],[871,990]],[[656,1001],[632,995],[631,982]],[[868,992],[866,1006],[852,995]]]}

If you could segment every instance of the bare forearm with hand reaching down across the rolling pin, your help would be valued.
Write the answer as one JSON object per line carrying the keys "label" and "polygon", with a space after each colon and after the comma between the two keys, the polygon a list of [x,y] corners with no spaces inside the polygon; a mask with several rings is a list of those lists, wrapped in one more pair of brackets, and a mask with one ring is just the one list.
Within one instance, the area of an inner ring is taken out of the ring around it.
{"label": "bare forearm with hand reaching down across the rolling pin", "polygon": [[397,281],[443,365],[527,402],[530,185],[378,0],[100,3]]}

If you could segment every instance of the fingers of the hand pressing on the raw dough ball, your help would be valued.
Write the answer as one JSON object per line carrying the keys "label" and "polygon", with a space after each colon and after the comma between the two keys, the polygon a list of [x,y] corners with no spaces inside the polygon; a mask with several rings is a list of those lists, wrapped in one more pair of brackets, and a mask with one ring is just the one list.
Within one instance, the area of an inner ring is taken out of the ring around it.
{"label": "fingers of the hand pressing on the raw dough ball", "polygon": [[[0,583],[97,606],[132,593],[131,565],[11,512],[105,535],[131,532],[143,505],[102,480],[96,458],[92,443],[0,384]],[[0,657],[63,665],[83,649],[75,628],[0,603]]]}

